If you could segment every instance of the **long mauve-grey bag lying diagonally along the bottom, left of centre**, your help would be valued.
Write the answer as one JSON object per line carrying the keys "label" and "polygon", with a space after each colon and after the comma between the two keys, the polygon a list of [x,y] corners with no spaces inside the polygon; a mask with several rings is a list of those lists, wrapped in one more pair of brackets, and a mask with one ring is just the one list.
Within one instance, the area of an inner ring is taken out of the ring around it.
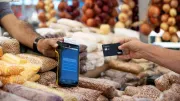
{"label": "long mauve-grey bag lying diagonally along the bottom, left of centre", "polygon": [[10,93],[31,101],[63,101],[60,96],[55,94],[28,88],[18,84],[5,85],[4,89]]}

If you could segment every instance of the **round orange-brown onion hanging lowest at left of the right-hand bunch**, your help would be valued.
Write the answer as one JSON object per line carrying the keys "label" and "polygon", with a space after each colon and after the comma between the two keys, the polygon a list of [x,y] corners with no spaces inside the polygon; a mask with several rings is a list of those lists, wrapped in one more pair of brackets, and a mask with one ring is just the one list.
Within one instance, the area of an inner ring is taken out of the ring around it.
{"label": "round orange-brown onion hanging lowest at left of the right-hand bunch", "polygon": [[152,28],[147,23],[144,23],[140,26],[140,32],[143,33],[144,35],[149,35],[151,31],[152,31]]}

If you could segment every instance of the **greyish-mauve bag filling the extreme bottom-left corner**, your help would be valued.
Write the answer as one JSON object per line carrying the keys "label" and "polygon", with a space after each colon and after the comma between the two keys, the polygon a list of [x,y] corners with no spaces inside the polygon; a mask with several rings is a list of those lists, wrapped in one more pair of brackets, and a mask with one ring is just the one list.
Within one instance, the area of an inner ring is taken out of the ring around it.
{"label": "greyish-mauve bag filling the extreme bottom-left corner", "polygon": [[0,101],[30,101],[30,100],[0,90]]}

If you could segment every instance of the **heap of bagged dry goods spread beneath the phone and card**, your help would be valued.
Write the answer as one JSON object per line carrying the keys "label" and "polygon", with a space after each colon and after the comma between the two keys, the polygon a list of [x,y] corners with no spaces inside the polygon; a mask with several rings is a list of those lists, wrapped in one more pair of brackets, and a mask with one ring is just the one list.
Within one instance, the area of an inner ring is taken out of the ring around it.
{"label": "heap of bagged dry goods spread beneath the phone and card", "polygon": [[[116,38],[122,36],[102,35],[89,30],[88,33],[73,32],[68,37],[82,44],[80,45],[80,64],[85,64],[83,68],[86,68],[86,72],[80,75],[78,87],[64,88],[56,84],[56,73],[53,71],[57,67],[56,60],[29,53],[3,54],[3,48],[0,48],[2,51],[0,64],[3,67],[0,68],[0,81],[3,83],[0,99],[8,101],[14,101],[12,99],[22,101],[37,101],[38,99],[41,101],[52,99],[57,101],[164,101],[164,99],[179,99],[177,90],[180,87],[179,74],[143,59],[132,59],[128,62],[116,56],[104,59],[102,48],[100,48],[102,44],[116,42]],[[93,48],[94,46],[96,47]],[[92,71],[95,75],[88,74]],[[91,77],[93,75],[94,78],[88,78],[87,74]],[[162,76],[154,79],[155,85],[146,85],[148,84],[147,77],[153,75]],[[38,97],[32,97],[34,95]]]}

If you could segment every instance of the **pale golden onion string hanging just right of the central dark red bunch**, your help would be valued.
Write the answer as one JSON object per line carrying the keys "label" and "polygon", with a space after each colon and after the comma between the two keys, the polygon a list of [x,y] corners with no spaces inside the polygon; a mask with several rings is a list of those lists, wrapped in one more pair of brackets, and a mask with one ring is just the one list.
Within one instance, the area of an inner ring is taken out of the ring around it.
{"label": "pale golden onion string hanging just right of the central dark red bunch", "polygon": [[122,0],[120,6],[121,13],[118,16],[119,21],[115,24],[115,28],[131,28],[138,31],[139,7],[138,0]]}

